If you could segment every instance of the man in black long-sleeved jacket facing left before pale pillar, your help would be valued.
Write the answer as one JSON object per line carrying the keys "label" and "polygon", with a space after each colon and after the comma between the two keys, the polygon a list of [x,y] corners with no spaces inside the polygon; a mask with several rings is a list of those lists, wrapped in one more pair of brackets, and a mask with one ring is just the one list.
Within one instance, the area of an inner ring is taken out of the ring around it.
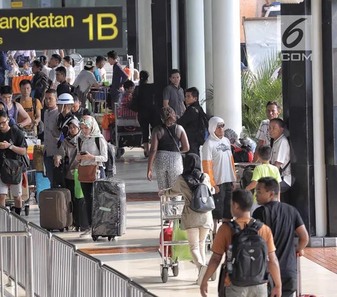
{"label": "man in black long-sleeved jacket facing left before pale pillar", "polygon": [[187,109],[183,116],[177,120],[177,124],[183,126],[186,131],[188,143],[190,143],[190,150],[187,154],[197,154],[200,157],[200,145],[204,144],[201,128],[206,128],[204,120],[207,121],[207,116],[199,104],[199,90],[197,88],[187,88],[185,103]]}

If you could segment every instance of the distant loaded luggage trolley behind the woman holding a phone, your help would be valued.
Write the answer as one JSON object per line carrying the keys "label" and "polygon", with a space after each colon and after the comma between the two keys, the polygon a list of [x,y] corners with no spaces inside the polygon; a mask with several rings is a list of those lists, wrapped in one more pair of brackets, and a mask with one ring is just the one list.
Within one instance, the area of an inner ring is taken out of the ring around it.
{"label": "distant loaded luggage trolley behind the woman holding a phone", "polygon": [[126,103],[114,103],[114,145],[116,158],[124,154],[124,147],[140,147],[143,133],[138,123],[137,113],[129,110]]}

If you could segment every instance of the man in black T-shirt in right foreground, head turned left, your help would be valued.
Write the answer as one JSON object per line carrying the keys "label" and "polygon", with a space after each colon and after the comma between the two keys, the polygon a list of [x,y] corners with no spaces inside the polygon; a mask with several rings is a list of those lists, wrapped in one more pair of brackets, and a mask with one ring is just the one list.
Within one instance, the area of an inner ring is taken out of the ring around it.
{"label": "man in black T-shirt in right foreground, head turned left", "polygon": [[[281,270],[282,297],[289,297],[297,289],[296,252],[303,256],[309,236],[297,209],[279,202],[278,194],[279,183],[274,178],[260,178],[256,185],[256,200],[262,207],[254,211],[253,218],[263,221],[272,230]],[[295,233],[299,237],[297,247]]]}

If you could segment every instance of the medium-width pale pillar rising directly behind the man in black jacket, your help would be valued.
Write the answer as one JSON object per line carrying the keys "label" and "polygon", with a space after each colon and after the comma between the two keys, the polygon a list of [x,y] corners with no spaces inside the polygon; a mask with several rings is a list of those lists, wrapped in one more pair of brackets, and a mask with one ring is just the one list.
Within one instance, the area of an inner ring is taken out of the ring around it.
{"label": "medium-width pale pillar rising directly behind the man in black jacket", "polygon": [[[186,1],[187,87],[199,89],[205,98],[204,0]],[[203,106],[205,109],[205,106]]]}

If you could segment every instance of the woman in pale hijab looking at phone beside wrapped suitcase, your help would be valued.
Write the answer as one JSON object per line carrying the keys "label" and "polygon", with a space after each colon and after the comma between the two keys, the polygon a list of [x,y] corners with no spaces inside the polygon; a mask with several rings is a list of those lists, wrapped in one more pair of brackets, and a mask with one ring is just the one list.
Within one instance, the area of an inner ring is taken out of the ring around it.
{"label": "woman in pale hijab looking at phone beside wrapped suitcase", "polygon": [[[80,166],[97,165],[100,171],[100,178],[105,178],[104,163],[107,161],[107,142],[100,133],[100,127],[95,118],[84,116],[80,122],[81,133],[77,143],[77,161]],[[96,145],[98,138],[100,147]],[[91,237],[91,223],[93,210],[93,183],[81,183],[81,189],[86,200],[89,230],[80,237]]]}

